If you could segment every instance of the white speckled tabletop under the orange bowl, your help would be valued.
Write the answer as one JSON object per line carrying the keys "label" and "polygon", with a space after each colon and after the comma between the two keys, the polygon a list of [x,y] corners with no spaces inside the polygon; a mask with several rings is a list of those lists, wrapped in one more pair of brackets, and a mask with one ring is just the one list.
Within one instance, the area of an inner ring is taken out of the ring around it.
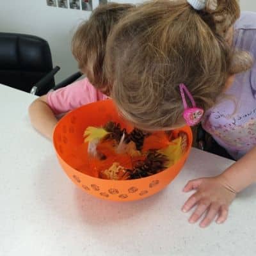
{"label": "white speckled tabletop under the orange bowl", "polygon": [[0,85],[0,255],[254,255],[256,186],[230,207],[224,225],[191,225],[180,211],[189,179],[225,170],[231,161],[193,149],[180,175],[142,201],[99,200],[61,170],[51,142],[29,124],[35,96]]}

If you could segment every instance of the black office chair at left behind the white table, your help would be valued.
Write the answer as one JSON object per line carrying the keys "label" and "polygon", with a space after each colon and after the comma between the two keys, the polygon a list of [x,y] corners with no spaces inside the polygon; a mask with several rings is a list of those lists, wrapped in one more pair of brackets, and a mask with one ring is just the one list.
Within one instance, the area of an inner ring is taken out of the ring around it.
{"label": "black office chair at left behind the white table", "polygon": [[[44,39],[17,33],[0,33],[0,83],[31,92],[37,85],[36,95],[43,95],[54,88],[54,74],[60,67],[52,68],[49,44]],[[49,78],[51,77],[51,79]],[[46,81],[47,80],[47,81]],[[43,83],[44,86],[40,86]]]}

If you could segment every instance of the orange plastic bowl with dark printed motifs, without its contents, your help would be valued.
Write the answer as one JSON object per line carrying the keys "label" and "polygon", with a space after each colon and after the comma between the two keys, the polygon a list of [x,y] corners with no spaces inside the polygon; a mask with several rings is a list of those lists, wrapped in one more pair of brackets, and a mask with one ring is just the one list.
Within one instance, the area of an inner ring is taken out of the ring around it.
{"label": "orange plastic bowl with dark printed motifs, without its contents", "polygon": [[192,132],[188,126],[178,129],[188,134],[188,150],[170,168],[149,177],[132,180],[104,180],[90,176],[92,170],[88,170],[88,145],[84,143],[83,133],[88,126],[99,127],[108,121],[118,122],[128,131],[132,129],[131,125],[118,115],[111,100],[95,102],[75,109],[61,118],[56,125],[53,143],[58,161],[79,188],[107,200],[122,202],[140,200],[161,191],[180,172],[192,144]]}

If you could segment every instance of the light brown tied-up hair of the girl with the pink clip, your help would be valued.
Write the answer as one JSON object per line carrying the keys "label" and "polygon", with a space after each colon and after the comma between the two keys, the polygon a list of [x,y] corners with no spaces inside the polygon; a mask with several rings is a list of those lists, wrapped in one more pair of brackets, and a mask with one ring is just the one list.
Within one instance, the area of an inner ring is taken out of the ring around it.
{"label": "light brown tied-up hair of the girl with the pink clip", "polygon": [[186,1],[161,0],[125,16],[106,54],[112,97],[122,115],[144,129],[183,125],[181,83],[198,107],[211,107],[228,77],[252,64],[227,42],[239,13],[236,0],[208,1],[202,11]]}

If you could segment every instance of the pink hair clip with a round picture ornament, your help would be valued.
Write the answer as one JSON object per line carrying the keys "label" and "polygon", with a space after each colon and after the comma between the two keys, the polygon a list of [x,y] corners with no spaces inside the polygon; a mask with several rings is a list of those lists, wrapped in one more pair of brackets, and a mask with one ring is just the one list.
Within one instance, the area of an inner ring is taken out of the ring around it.
{"label": "pink hair clip with a round picture ornament", "polygon": [[[185,93],[191,101],[192,108],[188,107]],[[180,95],[184,106],[183,118],[185,119],[186,124],[189,126],[198,124],[204,115],[204,109],[196,107],[195,100],[185,84],[180,84]]]}

